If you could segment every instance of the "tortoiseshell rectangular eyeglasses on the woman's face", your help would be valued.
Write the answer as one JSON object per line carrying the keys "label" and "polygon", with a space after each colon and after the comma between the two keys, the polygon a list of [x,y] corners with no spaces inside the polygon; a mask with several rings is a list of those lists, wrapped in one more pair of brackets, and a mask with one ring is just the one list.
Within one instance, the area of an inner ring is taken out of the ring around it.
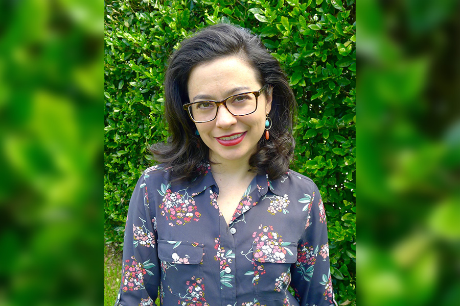
{"label": "tortoiseshell rectangular eyeglasses on the woman's face", "polygon": [[195,123],[213,121],[217,117],[217,110],[223,106],[234,116],[246,116],[257,110],[257,98],[267,88],[263,86],[258,91],[243,92],[225,98],[221,101],[198,101],[183,105]]}

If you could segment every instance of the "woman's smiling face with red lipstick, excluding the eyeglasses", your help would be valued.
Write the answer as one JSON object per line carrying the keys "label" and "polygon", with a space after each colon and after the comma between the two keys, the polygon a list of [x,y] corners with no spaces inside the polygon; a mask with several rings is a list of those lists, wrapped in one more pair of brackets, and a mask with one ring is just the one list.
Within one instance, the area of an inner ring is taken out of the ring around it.
{"label": "woman's smiling face with red lipstick, excluding the eyeglasses", "polygon": [[[199,64],[192,69],[188,81],[191,103],[219,101],[234,94],[258,91],[261,87],[256,70],[233,56]],[[271,109],[272,97],[266,92],[258,97],[257,110],[252,114],[234,116],[220,105],[213,121],[195,123],[202,141],[209,147],[210,161],[247,164],[264,134],[265,116]]]}

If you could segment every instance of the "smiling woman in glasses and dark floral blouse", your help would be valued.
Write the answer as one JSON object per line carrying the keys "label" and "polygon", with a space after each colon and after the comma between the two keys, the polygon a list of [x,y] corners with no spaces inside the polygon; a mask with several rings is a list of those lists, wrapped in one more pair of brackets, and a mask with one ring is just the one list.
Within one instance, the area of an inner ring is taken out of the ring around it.
{"label": "smiling woman in glasses and dark floral blouse", "polygon": [[[165,80],[171,138],[132,195],[117,305],[331,305],[326,215],[289,170],[295,99],[228,24],[182,42]],[[288,286],[294,289],[294,296]]]}

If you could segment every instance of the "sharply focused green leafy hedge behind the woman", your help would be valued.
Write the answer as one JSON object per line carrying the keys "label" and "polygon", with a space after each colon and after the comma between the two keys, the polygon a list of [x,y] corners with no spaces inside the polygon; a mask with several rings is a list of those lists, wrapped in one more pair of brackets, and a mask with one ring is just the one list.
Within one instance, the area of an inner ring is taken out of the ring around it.
{"label": "sharply focused green leafy hedge behind the woman", "polygon": [[355,304],[355,1],[112,1],[105,3],[105,242],[121,248],[129,198],[166,141],[167,59],[206,25],[239,24],[262,37],[299,105],[291,168],[326,204],[339,304]]}

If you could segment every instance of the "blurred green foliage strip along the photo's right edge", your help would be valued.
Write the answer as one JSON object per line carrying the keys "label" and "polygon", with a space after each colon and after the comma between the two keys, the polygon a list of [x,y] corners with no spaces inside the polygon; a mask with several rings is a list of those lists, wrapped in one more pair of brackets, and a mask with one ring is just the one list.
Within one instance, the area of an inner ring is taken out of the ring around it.
{"label": "blurred green foliage strip along the photo's right edge", "polygon": [[360,5],[358,299],[457,304],[459,3]]}

